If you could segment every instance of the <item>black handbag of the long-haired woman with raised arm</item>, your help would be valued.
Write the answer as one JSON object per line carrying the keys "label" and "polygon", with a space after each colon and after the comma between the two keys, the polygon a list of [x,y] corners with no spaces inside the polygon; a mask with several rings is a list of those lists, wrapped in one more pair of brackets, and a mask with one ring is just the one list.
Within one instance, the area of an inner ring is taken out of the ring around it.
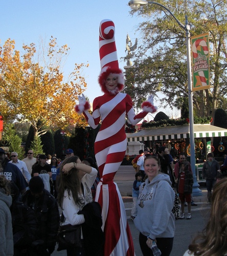
{"label": "black handbag of the long-haired woman with raised arm", "polygon": [[[62,214],[63,215],[63,214]],[[64,216],[63,216],[64,218]],[[62,219],[62,216],[61,216]],[[82,247],[81,225],[60,225],[58,230],[58,251],[66,250],[67,247]]]}

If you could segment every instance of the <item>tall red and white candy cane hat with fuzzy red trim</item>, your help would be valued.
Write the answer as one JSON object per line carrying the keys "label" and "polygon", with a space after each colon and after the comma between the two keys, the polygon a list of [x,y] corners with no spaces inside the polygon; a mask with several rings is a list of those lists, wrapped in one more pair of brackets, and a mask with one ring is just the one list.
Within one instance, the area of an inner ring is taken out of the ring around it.
{"label": "tall red and white candy cane hat with fuzzy red trim", "polygon": [[99,56],[101,73],[98,82],[102,92],[109,93],[105,87],[105,81],[109,74],[115,74],[118,77],[117,92],[122,91],[124,88],[124,75],[118,65],[117,48],[115,45],[115,24],[110,19],[103,19],[100,23]]}

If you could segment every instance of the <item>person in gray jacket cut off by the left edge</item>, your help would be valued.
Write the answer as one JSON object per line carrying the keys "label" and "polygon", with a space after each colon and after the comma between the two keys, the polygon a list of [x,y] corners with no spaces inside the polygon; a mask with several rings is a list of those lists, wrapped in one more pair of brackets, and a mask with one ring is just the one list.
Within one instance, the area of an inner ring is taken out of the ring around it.
{"label": "person in gray jacket cut off by the left edge", "polygon": [[0,175],[0,255],[13,255],[13,229],[9,207],[12,204],[10,196],[10,181]]}

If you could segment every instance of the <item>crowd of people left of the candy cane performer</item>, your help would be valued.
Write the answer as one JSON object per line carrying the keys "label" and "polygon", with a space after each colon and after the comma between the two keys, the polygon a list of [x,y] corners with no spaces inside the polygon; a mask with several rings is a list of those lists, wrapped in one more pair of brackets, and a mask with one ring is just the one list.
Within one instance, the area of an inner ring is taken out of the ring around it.
{"label": "crowd of people left of the candy cane performer", "polygon": [[[1,218],[1,255],[51,255],[60,225],[59,206],[65,216],[64,224],[82,224],[86,220],[82,210],[94,201],[92,188],[95,194],[99,180],[95,162],[87,158],[81,163],[71,148],[65,151],[65,159],[59,164],[55,154],[48,164],[46,155],[38,154],[35,158],[32,150],[22,160],[18,159],[17,152],[12,152],[11,159],[9,161],[0,148],[0,214],[4,217]],[[76,163],[77,166],[64,175],[62,168],[66,172],[67,163]],[[72,210],[74,208],[75,211]],[[77,215],[79,210],[81,213]],[[99,230],[101,236],[101,226]],[[104,236],[98,243],[99,250],[102,250],[103,241]],[[67,255],[77,255],[75,250],[67,248]],[[97,253],[101,255],[98,250]]]}

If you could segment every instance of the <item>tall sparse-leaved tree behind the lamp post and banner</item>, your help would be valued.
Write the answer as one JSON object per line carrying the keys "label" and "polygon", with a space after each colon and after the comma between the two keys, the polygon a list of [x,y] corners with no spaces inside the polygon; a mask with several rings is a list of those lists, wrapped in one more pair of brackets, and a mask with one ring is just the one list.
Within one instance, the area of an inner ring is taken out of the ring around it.
{"label": "tall sparse-leaved tree behind the lamp post and banner", "polygon": [[[185,15],[192,24],[191,36],[209,32],[211,89],[193,93],[194,112],[210,115],[216,108],[226,108],[227,68],[227,2],[160,0],[174,16],[185,24]],[[148,4],[132,15],[143,16],[139,24],[141,38],[133,53],[134,66],[126,70],[125,92],[139,107],[144,98],[162,92],[162,106],[181,108],[188,100],[188,75],[185,31],[164,8]]]}

